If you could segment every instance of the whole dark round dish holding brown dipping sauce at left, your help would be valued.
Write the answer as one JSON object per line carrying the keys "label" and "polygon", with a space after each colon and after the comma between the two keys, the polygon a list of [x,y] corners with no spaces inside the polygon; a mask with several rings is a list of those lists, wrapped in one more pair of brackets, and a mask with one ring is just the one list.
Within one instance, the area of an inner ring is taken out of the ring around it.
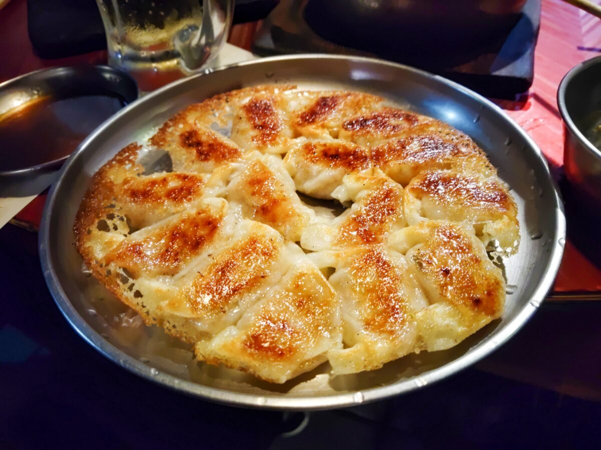
{"label": "whole dark round dish holding brown dipping sauce at left", "polygon": [[138,98],[108,66],[38,70],[0,84],[0,181],[57,170],[102,122]]}

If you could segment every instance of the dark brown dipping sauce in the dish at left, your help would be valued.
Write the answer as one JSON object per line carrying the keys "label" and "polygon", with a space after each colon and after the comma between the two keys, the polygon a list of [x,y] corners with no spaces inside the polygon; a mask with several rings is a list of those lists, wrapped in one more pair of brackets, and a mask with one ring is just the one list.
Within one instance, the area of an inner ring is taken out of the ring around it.
{"label": "dark brown dipping sauce in the dish at left", "polygon": [[125,105],[114,95],[41,97],[0,116],[0,171],[24,169],[69,155]]}

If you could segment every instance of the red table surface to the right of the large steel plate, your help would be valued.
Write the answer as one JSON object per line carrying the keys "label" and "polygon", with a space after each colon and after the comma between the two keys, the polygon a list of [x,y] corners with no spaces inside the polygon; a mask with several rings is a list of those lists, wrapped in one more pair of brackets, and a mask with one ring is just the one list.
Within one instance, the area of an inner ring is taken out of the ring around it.
{"label": "red table surface to the right of the large steel plate", "polygon": [[[557,87],[572,67],[600,54],[601,20],[560,0],[543,0],[540,23],[534,83],[528,95],[519,101],[496,103],[530,134],[545,154],[555,177],[560,178],[564,130],[557,108]],[[573,222],[568,215],[568,228],[570,223]],[[588,259],[569,239],[554,293],[600,291],[599,260]]]}

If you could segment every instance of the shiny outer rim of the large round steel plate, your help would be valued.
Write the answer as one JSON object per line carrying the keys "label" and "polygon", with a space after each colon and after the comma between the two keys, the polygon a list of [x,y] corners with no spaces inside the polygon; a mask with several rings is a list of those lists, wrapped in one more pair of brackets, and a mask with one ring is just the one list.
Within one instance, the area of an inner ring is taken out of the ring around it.
{"label": "shiny outer rim of the large round steel plate", "polygon": [[[468,95],[469,97],[474,98],[479,103],[483,104],[486,107],[489,107],[494,112],[499,115],[500,119],[504,119],[508,122],[511,128],[514,129],[517,133],[520,134],[522,139],[525,140],[527,145],[530,147],[530,150],[536,155],[540,163],[542,163],[542,167],[545,169],[545,174],[548,178],[550,187],[553,192],[553,202],[555,203],[555,220],[557,221],[557,225],[555,227],[555,233],[557,237],[557,241],[552,244],[551,255],[549,256],[548,269],[543,275],[538,283],[538,286],[535,287],[534,293],[531,296],[528,304],[524,305],[519,313],[516,314],[513,319],[510,319],[508,322],[505,322],[502,326],[502,329],[498,332],[498,335],[494,340],[486,340],[481,341],[476,344],[472,349],[469,350],[469,353],[460,356],[457,359],[453,359],[447,364],[442,365],[441,367],[435,368],[427,373],[421,374],[419,377],[412,377],[405,380],[400,380],[390,385],[379,386],[370,389],[365,389],[364,391],[357,392],[343,392],[341,394],[334,395],[317,395],[314,397],[286,397],[285,395],[274,395],[270,397],[263,397],[257,394],[247,394],[243,392],[234,392],[228,391],[226,389],[215,388],[212,386],[204,386],[198,383],[190,382],[187,380],[182,380],[178,377],[157,371],[149,367],[148,365],[138,361],[135,358],[132,358],[121,350],[117,349],[117,347],[113,346],[109,341],[105,340],[100,336],[96,331],[88,325],[87,322],[79,315],[76,311],[75,307],[71,304],[69,299],[67,298],[66,293],[64,292],[61,284],[58,280],[56,272],[53,268],[50,251],[49,251],[49,243],[50,243],[50,235],[49,235],[49,227],[50,227],[50,211],[54,208],[56,202],[56,191],[61,185],[63,181],[64,174],[69,167],[71,166],[74,158],[82,152],[84,148],[88,145],[88,142],[93,140],[103,128],[107,127],[114,121],[117,121],[121,116],[125,115],[129,109],[132,108],[132,105],[128,105],[124,107],[124,109],[117,112],[112,118],[108,119],[101,127],[97,128],[94,133],[90,134],[84,142],[81,143],[78,149],[70,155],[69,160],[64,164],[61,172],[59,174],[58,180],[55,184],[50,188],[50,192],[48,194],[46,205],[44,206],[44,212],[42,221],[40,224],[40,233],[38,238],[38,250],[40,253],[40,261],[43,269],[44,278],[46,279],[46,284],[50,290],[50,293],[53,299],[56,302],[59,310],[63,313],[64,317],[67,319],[67,322],[87,341],[91,346],[93,346],[96,350],[102,353],[106,358],[111,361],[121,365],[121,367],[126,368],[130,372],[143,377],[144,379],[150,380],[152,382],[159,383],[163,386],[169,387],[171,389],[175,389],[177,391],[183,392],[188,395],[194,395],[196,397],[201,397],[205,400],[216,401],[218,403],[230,404],[233,406],[240,407],[259,407],[264,409],[278,409],[278,410],[317,410],[317,409],[329,409],[335,407],[349,407],[349,406],[358,406],[359,404],[368,403],[370,401],[381,400],[383,398],[392,397],[393,395],[403,394],[404,392],[413,391],[415,389],[421,388],[423,386],[429,385],[430,383],[438,382],[445,377],[451,376],[452,374],[457,373],[460,370],[465,369],[469,365],[474,364],[480,359],[484,358],[484,356],[489,355],[496,348],[501,346],[501,344],[505,343],[509,338],[511,338],[517,330],[534,314],[534,312],[538,309],[540,304],[545,299],[545,296],[551,290],[552,284],[555,280],[555,276],[557,275],[557,271],[559,269],[561,259],[563,256],[563,245],[560,244],[562,240],[566,238],[566,218],[564,215],[563,203],[560,199],[560,194],[557,188],[557,184],[549,172],[549,166],[542,152],[538,148],[538,146],[534,143],[534,140],[528,134],[516,124],[509,116],[505,114],[505,112],[491,101],[482,97],[480,94],[477,94],[470,89],[465,88],[455,82],[445,79],[444,77],[427,73],[423,70],[418,70],[416,68],[408,67],[406,65],[397,64],[394,62],[382,61],[377,58],[366,58],[361,56],[346,56],[346,55],[325,55],[321,53],[307,53],[301,55],[284,55],[284,56],[272,56],[269,58],[261,58],[254,61],[246,61],[240,62],[236,64],[227,65],[221,68],[217,68],[215,70],[206,70],[204,73],[197,74],[195,76],[177,80],[169,85],[163,86],[163,88],[157,89],[157,91],[152,92],[144,97],[144,99],[139,101],[145,101],[147,98],[154,98],[162,92],[165,92],[168,89],[171,89],[173,86],[180,85],[182,83],[193,83],[199,77],[203,76],[205,73],[212,73],[213,71],[222,71],[222,70],[230,70],[231,68],[251,65],[251,64],[261,64],[263,62],[277,62],[277,61],[285,61],[285,60],[307,60],[311,61],[312,59],[334,59],[334,60],[346,60],[346,61],[357,61],[368,64],[379,64],[379,65],[387,65],[389,67],[398,68],[403,71],[409,71],[411,73],[417,74],[421,77],[426,77],[427,79],[436,80],[439,83],[442,83],[450,89],[454,89],[462,92],[463,94]],[[413,381],[412,384],[407,382]]]}

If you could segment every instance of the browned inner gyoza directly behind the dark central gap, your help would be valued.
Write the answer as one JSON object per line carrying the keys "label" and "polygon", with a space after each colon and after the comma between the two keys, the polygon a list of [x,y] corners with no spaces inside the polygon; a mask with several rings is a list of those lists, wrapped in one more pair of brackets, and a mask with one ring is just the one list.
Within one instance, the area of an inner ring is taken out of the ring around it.
{"label": "browned inner gyoza directly behind the dark central gap", "polygon": [[297,190],[319,199],[332,199],[344,175],[372,166],[369,151],[337,139],[299,140],[284,158]]}

